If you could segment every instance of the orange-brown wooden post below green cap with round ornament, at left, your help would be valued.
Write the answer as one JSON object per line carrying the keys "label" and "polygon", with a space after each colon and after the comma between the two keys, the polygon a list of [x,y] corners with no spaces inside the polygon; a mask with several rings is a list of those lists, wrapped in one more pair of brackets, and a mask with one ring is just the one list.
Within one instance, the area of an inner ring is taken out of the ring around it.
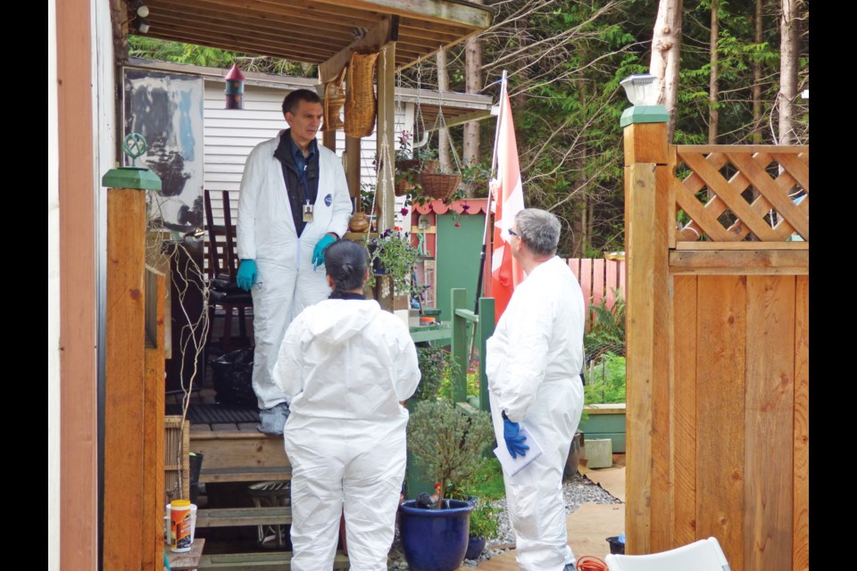
{"label": "orange-brown wooden post below green cap with round ornament, at left", "polygon": [[107,191],[104,362],[104,568],[143,560],[146,193]]}

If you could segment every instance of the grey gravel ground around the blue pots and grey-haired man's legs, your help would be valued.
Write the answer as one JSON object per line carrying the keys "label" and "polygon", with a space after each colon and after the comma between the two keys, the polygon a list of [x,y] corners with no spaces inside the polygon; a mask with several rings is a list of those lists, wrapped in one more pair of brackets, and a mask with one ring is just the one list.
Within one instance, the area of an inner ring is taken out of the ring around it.
{"label": "grey gravel ground around the blue pots and grey-haired man's legs", "polygon": [[[565,499],[565,513],[570,515],[574,513],[580,506],[585,503],[621,503],[607,493],[600,485],[595,484],[586,476],[575,475],[570,480],[562,485],[562,497]],[[497,555],[508,550],[505,546],[515,541],[515,536],[512,534],[512,529],[509,526],[509,517],[506,512],[506,501],[498,500],[493,502],[496,508],[500,508],[500,537],[488,542],[486,549],[482,551],[482,555],[478,560],[464,559],[462,567],[476,567],[482,561],[487,561]],[[398,530],[395,532],[393,547],[390,549],[389,559],[387,559],[387,569],[404,570],[408,568],[407,562],[404,560],[402,552],[402,544],[399,542]]]}

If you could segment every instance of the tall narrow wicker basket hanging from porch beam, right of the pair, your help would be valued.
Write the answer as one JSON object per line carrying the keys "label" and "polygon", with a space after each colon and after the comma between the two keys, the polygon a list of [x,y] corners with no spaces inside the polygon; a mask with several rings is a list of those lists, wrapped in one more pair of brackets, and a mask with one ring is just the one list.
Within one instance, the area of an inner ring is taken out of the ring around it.
{"label": "tall narrow wicker basket hanging from porch beam, right of the pair", "polygon": [[378,103],[375,99],[376,46],[357,47],[348,64],[345,90],[345,135],[369,137],[375,129]]}

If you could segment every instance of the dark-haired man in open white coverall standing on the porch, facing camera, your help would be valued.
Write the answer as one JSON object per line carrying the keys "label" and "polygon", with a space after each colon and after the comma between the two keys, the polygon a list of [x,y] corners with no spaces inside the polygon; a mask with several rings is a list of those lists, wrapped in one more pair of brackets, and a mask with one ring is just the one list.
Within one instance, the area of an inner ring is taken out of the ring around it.
{"label": "dark-haired man in open white coverall standing on the porch, facing camera", "polygon": [[286,396],[272,372],[295,315],[328,297],[324,248],[345,234],[352,203],[336,153],[316,141],[323,110],[314,91],[283,100],[289,128],[247,157],[238,199],[237,285],[253,295],[253,389],[259,430],[282,434]]}

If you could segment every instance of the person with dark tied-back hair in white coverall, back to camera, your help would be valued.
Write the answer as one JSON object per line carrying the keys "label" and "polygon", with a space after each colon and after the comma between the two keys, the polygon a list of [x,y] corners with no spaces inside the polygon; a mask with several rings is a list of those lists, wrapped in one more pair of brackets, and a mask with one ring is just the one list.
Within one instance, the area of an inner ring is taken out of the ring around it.
{"label": "person with dark tied-back hair in white coverall, back to camera", "polygon": [[417,352],[404,322],[362,295],[366,248],[342,240],[326,260],[333,294],[288,327],[274,372],[291,407],[291,566],[330,571],[344,513],[351,568],[387,571]]}

